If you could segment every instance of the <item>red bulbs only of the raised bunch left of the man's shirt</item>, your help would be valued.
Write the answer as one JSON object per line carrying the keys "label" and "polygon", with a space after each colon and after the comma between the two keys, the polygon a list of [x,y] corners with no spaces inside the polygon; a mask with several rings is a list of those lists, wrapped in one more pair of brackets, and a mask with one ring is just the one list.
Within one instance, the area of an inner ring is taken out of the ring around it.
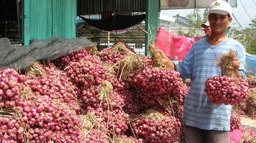
{"label": "red bulbs only of the raised bunch left of the man's shirt", "polygon": [[127,82],[135,89],[141,89],[148,95],[167,94],[178,91],[182,79],[180,73],[174,70],[158,70],[145,67],[129,76]]}

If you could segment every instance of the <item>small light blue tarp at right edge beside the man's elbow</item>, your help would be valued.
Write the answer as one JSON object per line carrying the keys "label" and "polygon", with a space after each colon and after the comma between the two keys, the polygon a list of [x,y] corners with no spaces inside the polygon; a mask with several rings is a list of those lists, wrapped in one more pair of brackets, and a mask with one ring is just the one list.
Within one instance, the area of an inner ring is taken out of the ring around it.
{"label": "small light blue tarp at right edge beside the man's elbow", "polygon": [[246,53],[245,73],[256,75],[256,55]]}

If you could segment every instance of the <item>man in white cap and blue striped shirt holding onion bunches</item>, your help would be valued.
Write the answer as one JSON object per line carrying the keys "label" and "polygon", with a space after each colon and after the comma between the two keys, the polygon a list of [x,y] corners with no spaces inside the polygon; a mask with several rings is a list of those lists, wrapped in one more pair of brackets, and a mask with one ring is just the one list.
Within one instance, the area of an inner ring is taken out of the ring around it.
{"label": "man in white cap and blue striped shirt holding onion bunches", "polygon": [[232,8],[225,1],[210,5],[208,20],[211,35],[197,41],[179,64],[174,64],[159,50],[166,65],[180,72],[183,79],[191,78],[191,88],[184,101],[184,132],[187,143],[229,143],[231,105],[212,105],[205,89],[208,77],[220,76],[221,68],[215,64],[220,55],[230,49],[236,58],[229,67],[237,77],[245,78],[245,50],[241,43],[226,35],[232,21]]}

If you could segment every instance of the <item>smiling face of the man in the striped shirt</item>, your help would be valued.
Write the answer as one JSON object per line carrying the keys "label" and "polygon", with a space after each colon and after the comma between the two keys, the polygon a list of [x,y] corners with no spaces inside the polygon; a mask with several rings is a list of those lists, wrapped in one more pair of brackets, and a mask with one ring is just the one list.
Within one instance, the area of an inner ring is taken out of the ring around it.
{"label": "smiling face of the man in the striped shirt", "polygon": [[212,33],[225,33],[227,25],[230,24],[232,18],[228,15],[220,15],[211,13],[208,16]]}

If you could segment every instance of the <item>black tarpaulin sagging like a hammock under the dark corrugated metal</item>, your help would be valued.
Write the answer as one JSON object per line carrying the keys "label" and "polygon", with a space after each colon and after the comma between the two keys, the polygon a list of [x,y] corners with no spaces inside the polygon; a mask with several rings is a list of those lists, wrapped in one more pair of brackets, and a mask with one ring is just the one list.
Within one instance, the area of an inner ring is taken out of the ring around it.
{"label": "black tarpaulin sagging like a hammock under the dark corrugated metal", "polygon": [[129,28],[134,26],[135,24],[141,22],[145,19],[145,14],[141,15],[118,15],[114,14],[108,18],[104,19],[89,19],[82,17],[78,15],[80,18],[82,18],[84,21],[86,21],[88,24],[104,31],[118,31],[118,30],[124,30],[125,28]]}

